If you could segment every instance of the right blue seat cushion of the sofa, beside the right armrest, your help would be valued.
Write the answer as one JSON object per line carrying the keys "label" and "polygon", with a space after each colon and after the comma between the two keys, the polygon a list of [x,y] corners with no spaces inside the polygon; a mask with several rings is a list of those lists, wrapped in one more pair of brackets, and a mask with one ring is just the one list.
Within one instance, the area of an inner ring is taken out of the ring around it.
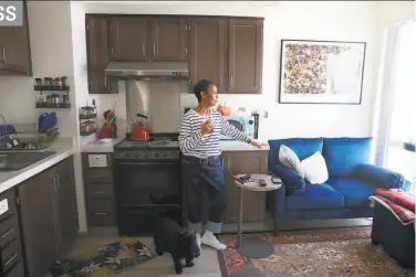
{"label": "right blue seat cushion of the sofa, beside the right armrest", "polygon": [[326,183],[344,195],[345,207],[368,207],[375,191],[374,185],[358,179],[331,178]]}

